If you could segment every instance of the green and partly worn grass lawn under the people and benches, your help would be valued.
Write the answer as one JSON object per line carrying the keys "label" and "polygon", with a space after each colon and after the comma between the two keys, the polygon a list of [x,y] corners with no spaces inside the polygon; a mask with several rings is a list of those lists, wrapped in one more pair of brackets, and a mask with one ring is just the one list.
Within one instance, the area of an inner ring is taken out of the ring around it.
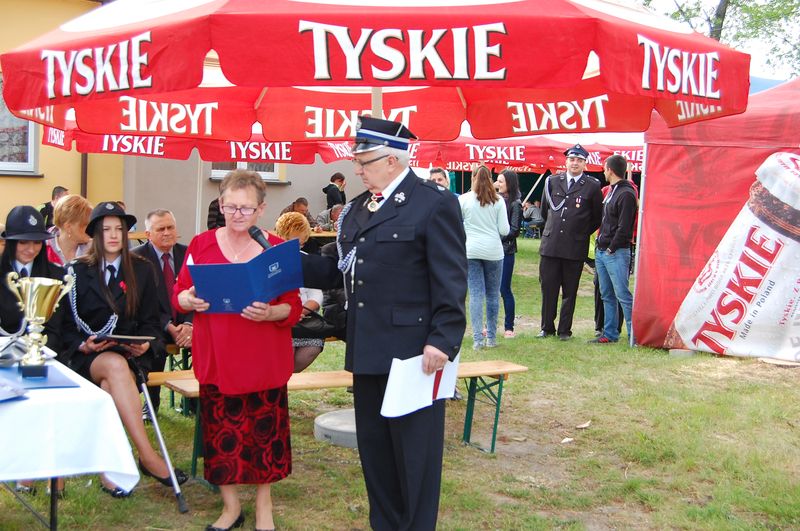
{"label": "green and partly worn grass lawn under the people and benches", "polygon": [[[588,274],[576,337],[536,339],[538,240],[519,243],[518,337],[473,352],[468,330],[463,358],[530,370],[506,383],[494,455],[461,444],[465,404],[448,404],[440,529],[800,528],[797,370],[588,345]],[[328,345],[310,370],[341,368],[343,357],[340,345]],[[166,392],[161,427],[173,460],[188,470],[193,420],[165,405]],[[317,415],[351,406],[343,390],[291,395],[294,470],[273,489],[279,529],[369,528],[357,452],[313,437]],[[490,405],[478,404],[473,442],[488,445],[491,415]],[[103,494],[98,483],[96,476],[67,481],[62,529],[202,529],[221,508],[218,495],[195,481],[185,485],[186,515],[153,480],[142,479],[125,500]],[[0,492],[0,528],[34,529],[35,520]],[[248,529],[254,489],[242,496]],[[43,492],[32,500],[46,510]]]}

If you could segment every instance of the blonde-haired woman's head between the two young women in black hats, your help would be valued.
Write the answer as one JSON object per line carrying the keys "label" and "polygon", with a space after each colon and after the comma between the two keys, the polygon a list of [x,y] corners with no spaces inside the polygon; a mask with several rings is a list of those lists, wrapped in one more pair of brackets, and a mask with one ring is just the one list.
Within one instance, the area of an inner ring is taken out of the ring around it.
{"label": "blonde-haired woman's head between the two young women in black hats", "polygon": [[86,234],[92,205],[79,195],[65,195],[53,210],[55,238],[47,242],[47,259],[54,264],[68,264],[89,250],[91,236]]}

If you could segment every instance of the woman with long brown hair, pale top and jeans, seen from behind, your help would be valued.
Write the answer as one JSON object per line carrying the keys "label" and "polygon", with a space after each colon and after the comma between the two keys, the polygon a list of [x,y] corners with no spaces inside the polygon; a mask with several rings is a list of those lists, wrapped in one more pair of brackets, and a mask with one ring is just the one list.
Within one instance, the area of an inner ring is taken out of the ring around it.
{"label": "woman with long brown hair, pale top and jeans, seen from behind", "polygon": [[[472,322],[472,348],[497,346],[497,314],[503,271],[501,237],[508,234],[508,216],[497,194],[492,173],[478,166],[472,173],[472,189],[459,196],[464,232],[467,234],[467,285]],[[486,338],[483,337],[483,305],[486,301]]]}

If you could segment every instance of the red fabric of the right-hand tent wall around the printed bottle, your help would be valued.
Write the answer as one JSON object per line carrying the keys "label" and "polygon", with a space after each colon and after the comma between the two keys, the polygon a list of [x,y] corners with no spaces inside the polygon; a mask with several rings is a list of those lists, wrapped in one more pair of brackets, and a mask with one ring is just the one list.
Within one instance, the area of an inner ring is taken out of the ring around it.
{"label": "red fabric of the right-hand tent wall around the printed bottle", "polygon": [[[800,79],[752,95],[747,111],[738,116],[676,129],[654,120],[645,134],[647,163],[633,314],[639,343],[665,344],[698,275],[701,271],[713,273],[713,263],[711,269],[704,266],[714,262],[723,235],[748,201],[756,170],[773,153],[800,154],[798,125]],[[800,190],[800,182],[794,187],[795,192]],[[785,217],[787,222],[789,219]],[[785,309],[790,319],[797,319],[800,259],[784,270],[783,276],[790,285],[794,283],[795,290],[794,303],[790,296]],[[746,289],[751,288],[755,290],[753,286]],[[792,288],[786,292],[791,295]],[[778,316],[776,322],[781,319],[783,316]],[[733,349],[724,353],[794,359],[800,346],[800,333],[795,335],[797,344],[792,346],[787,338],[785,349],[755,345],[746,352]],[[686,346],[714,350],[702,341],[690,341]]]}

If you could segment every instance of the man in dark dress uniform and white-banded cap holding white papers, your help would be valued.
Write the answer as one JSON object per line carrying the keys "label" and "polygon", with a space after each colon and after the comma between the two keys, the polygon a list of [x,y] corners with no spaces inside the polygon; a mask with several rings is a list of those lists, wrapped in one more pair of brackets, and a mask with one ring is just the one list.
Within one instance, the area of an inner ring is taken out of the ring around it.
{"label": "man in dark dress uniform and white-banded cap holding white papers", "polygon": [[353,373],[356,434],[374,529],[434,529],[443,400],[397,418],[380,414],[392,358],[422,354],[430,374],[453,360],[466,327],[465,235],[449,190],[408,168],[402,124],[362,117],[353,147],[367,191],[342,212],[334,260],[303,257],[305,285],[347,294],[345,368]]}

